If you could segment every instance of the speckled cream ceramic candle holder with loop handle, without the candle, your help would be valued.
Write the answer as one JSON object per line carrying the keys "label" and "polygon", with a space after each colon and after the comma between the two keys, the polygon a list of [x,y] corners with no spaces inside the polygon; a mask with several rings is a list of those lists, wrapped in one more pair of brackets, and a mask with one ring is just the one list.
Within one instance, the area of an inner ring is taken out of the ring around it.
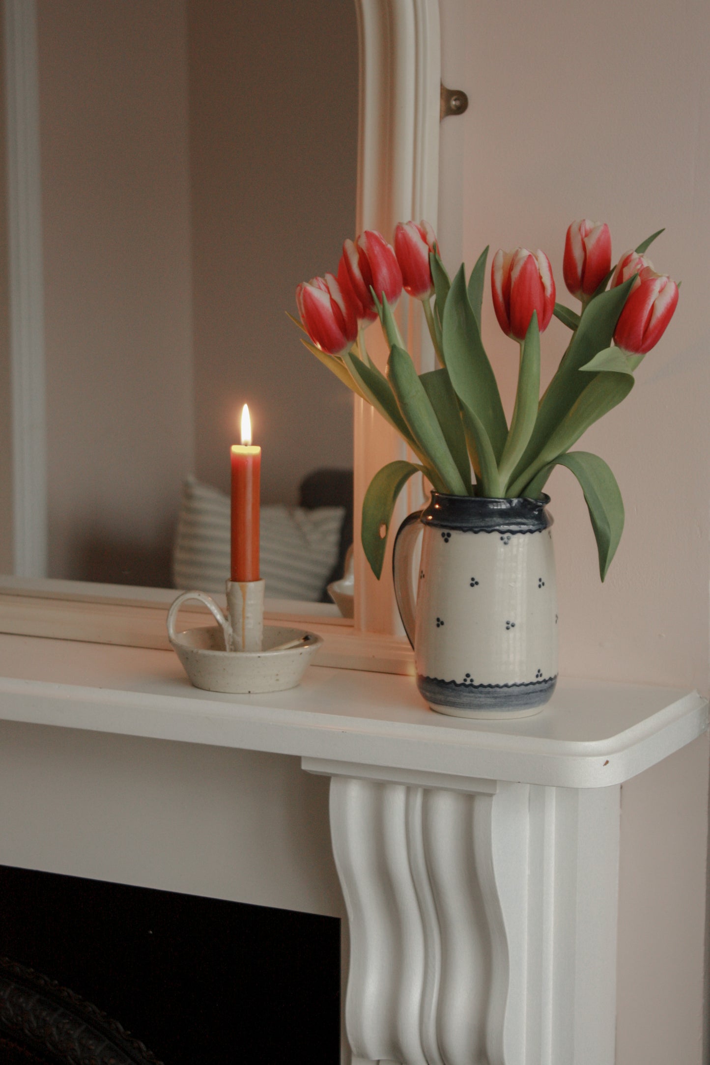
{"label": "speckled cream ceramic candle holder with loop handle, without the candle", "polygon": [[[217,626],[176,630],[178,611],[195,600]],[[227,617],[204,592],[182,592],[167,616],[170,645],[196,688],[233,694],[283,691],[300,683],[323,639],[300,628],[267,625],[264,581],[227,581]]]}

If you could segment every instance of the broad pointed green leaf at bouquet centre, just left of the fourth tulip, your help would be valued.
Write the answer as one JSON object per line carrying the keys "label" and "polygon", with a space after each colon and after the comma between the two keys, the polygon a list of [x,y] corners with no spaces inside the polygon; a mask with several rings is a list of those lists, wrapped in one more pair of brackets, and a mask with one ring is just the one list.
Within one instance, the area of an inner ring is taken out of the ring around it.
{"label": "broad pointed green leaf at bouquet centre, just left of the fourth tulip", "polygon": [[444,358],[459,398],[481,423],[496,461],[508,439],[498,383],[468,300],[463,266],[453,278],[444,308]]}

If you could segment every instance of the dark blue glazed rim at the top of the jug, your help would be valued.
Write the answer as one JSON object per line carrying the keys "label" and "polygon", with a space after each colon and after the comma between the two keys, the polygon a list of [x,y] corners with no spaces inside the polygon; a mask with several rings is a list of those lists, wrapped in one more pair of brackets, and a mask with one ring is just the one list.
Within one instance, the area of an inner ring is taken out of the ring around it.
{"label": "dark blue glazed rim at the top of the jug", "polygon": [[548,503],[549,495],[488,499],[432,492],[420,520],[424,525],[459,532],[542,532],[552,524],[552,515],[545,509]]}

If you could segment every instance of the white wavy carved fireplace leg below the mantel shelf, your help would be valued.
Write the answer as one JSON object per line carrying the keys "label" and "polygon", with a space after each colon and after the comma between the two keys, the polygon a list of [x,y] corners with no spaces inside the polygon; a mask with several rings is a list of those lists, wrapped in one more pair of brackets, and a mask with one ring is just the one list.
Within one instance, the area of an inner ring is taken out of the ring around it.
{"label": "white wavy carved fireplace leg below the mantel shelf", "polygon": [[620,799],[333,776],[353,1062],[613,1065]]}

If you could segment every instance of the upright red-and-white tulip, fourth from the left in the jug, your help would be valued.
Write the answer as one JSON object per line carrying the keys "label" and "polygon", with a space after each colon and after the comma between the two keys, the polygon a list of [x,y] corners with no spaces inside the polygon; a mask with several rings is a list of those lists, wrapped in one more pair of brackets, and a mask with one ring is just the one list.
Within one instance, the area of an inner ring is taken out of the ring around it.
{"label": "upright red-and-white tulip, fourth from the left in the jug", "polygon": [[544,251],[533,256],[527,248],[499,249],[491,267],[493,306],[498,324],[514,340],[525,340],[532,312],[538,312],[542,332],[555,310],[555,278]]}

